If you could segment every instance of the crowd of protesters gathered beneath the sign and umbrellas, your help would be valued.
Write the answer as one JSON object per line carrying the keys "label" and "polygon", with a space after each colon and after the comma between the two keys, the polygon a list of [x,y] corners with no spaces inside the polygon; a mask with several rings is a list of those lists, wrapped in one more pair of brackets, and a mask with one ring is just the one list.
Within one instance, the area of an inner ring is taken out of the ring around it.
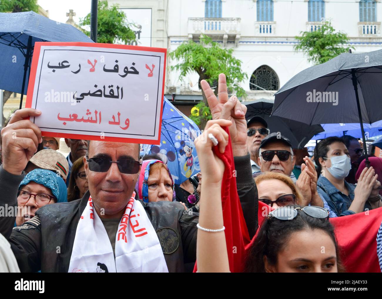
{"label": "crowd of protesters gathered beneath the sign and umbrellas", "polygon": [[[246,120],[224,74],[219,99],[201,86],[212,113],[194,140],[201,172],[180,185],[139,144],[65,138],[65,157],[59,138],[26,119],[40,111],[13,114],[1,132],[0,206],[23,212],[0,217],[0,232],[21,272],[193,272],[196,260],[197,272],[230,272],[224,155],[252,240],[243,271],[346,271],[329,219],[382,207],[381,158],[366,167],[351,136],[321,140],[309,157],[261,117]],[[261,221],[259,205],[269,206]]]}

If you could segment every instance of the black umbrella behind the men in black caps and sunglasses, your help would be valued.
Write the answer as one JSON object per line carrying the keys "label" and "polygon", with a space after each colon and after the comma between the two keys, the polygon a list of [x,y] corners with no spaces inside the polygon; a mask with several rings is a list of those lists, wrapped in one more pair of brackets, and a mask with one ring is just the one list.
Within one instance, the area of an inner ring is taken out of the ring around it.
{"label": "black umbrella behind the men in black caps and sunglasses", "polygon": [[302,122],[292,121],[278,116],[270,116],[273,103],[264,102],[262,99],[251,103],[246,103],[247,113],[245,118],[248,120],[253,116],[261,116],[268,124],[270,133],[280,132],[288,138],[294,149],[304,148],[304,145],[313,135],[324,131],[320,125],[306,125]]}

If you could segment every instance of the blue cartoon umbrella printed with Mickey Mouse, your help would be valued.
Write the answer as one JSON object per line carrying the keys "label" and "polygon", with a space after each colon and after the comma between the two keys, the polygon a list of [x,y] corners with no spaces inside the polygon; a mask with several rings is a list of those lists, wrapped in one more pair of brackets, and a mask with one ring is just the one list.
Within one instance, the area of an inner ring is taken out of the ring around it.
{"label": "blue cartoon umbrella printed with Mickey Mouse", "polygon": [[180,185],[200,171],[194,139],[197,125],[163,97],[160,145],[142,145],[141,155],[157,154],[170,169],[174,183]]}

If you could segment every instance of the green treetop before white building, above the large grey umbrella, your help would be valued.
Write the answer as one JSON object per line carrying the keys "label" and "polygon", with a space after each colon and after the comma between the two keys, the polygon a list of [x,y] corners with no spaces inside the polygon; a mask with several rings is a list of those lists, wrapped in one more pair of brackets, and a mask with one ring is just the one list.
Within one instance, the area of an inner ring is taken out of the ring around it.
{"label": "green treetop before white building, above the large grey umbrella", "polygon": [[[324,21],[316,31],[301,31],[296,36],[299,41],[295,51],[302,50],[308,55],[308,61],[320,64],[349,51],[349,38],[345,33],[335,32],[330,21]],[[354,49],[354,48],[353,48]]]}

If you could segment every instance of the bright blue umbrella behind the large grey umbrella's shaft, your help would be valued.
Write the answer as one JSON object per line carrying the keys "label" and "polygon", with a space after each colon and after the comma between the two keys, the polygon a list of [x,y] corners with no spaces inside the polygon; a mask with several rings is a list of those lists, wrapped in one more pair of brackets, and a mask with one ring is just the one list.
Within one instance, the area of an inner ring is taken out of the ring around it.
{"label": "bright blue umbrella behind the large grey umbrella's shaft", "polygon": [[[316,134],[312,140],[324,139],[331,136],[350,135],[355,138],[362,138],[361,126],[359,123],[348,124],[322,124],[324,132]],[[366,138],[382,134],[382,121],[373,122],[372,124],[363,124]]]}

